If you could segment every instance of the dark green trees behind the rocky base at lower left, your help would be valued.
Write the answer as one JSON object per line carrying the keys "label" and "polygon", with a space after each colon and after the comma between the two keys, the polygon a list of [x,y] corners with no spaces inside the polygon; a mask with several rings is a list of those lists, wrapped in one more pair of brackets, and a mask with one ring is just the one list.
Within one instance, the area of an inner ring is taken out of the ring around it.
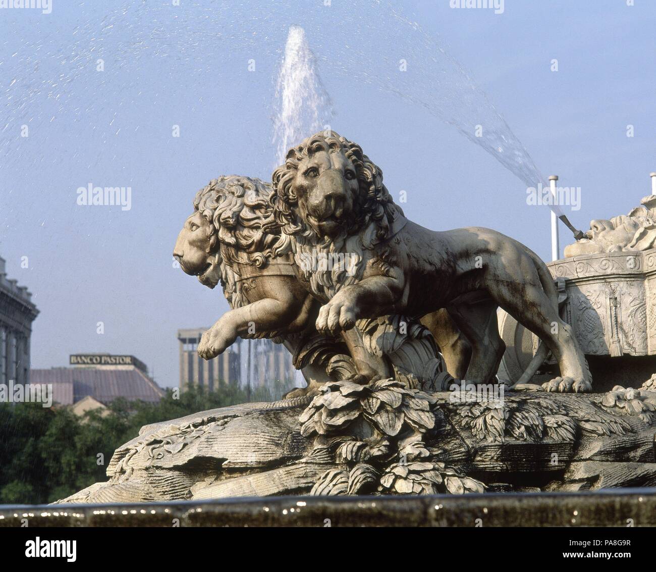
{"label": "dark green trees behind the rocky base at lower left", "polygon": [[[42,504],[63,499],[98,481],[119,445],[142,426],[246,401],[279,399],[290,384],[247,392],[220,384],[213,392],[190,388],[159,403],[116,399],[106,410],[77,417],[66,407],[0,403],[0,504]],[[249,395],[250,393],[250,395]]]}

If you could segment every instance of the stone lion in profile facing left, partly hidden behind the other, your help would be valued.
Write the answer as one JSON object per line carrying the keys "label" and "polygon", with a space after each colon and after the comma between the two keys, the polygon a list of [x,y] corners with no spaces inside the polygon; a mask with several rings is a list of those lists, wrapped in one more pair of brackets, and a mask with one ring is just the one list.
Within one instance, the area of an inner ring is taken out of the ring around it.
{"label": "stone lion in profile facing left, partly hidden behind the other", "polygon": [[[199,190],[194,212],[184,222],[173,249],[180,268],[214,288],[221,283],[230,305],[215,325],[203,334],[197,352],[212,359],[242,338],[278,338],[295,358],[308,387],[295,397],[314,392],[319,384],[334,381],[325,367],[301,362],[308,340],[346,352],[334,337],[314,328],[318,304],[300,285],[289,254],[289,239],[277,226],[270,197],[272,188],[256,178],[220,176]],[[314,339],[312,335],[314,334]]]}

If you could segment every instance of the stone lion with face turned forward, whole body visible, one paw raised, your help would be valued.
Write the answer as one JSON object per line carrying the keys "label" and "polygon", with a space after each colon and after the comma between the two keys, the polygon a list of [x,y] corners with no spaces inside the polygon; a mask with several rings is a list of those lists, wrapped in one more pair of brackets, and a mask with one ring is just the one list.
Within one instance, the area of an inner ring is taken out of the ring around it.
{"label": "stone lion with face turned forward, whole body visible, one paw raised", "polygon": [[527,247],[487,228],[435,232],[407,220],[379,167],[334,131],[291,148],[273,184],[276,220],[293,239],[297,262],[312,251],[358,259],[349,276],[300,272],[324,302],[319,332],[348,331],[377,316],[422,317],[443,309],[471,347],[464,378],[486,384],[495,379],[505,347],[497,326],[501,306],[543,342],[529,370],[537,369],[546,348],[558,361],[561,376],[544,384],[546,390],[592,388],[583,352],[558,315],[552,277]]}

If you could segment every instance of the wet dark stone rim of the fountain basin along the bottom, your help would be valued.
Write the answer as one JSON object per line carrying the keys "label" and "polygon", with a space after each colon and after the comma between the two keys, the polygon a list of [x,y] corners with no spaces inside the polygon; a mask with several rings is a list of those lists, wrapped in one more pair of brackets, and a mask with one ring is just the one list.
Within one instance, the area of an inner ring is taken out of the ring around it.
{"label": "wet dark stone rim of the fountain basin along the bottom", "polygon": [[647,527],[656,526],[656,490],[0,505],[0,527],[24,518],[30,527]]}

